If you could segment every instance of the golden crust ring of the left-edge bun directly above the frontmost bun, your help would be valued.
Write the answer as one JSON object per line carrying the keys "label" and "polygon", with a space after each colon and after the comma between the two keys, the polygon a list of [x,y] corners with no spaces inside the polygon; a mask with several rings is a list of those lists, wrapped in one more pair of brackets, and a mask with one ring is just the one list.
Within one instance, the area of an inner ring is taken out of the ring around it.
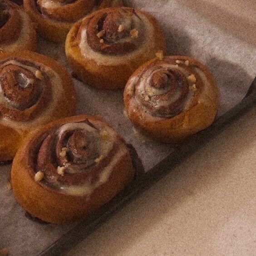
{"label": "golden crust ring of the left-edge bun directly above the frontmost bun", "polygon": [[[16,121],[15,115],[12,117],[9,117],[8,115],[5,116],[5,111],[3,108],[0,109],[0,161],[11,160],[14,158],[16,151],[22,143],[22,140],[25,139],[30,130],[35,129],[44,123],[49,123],[55,119],[73,115],[75,111],[74,85],[66,69],[64,69],[64,67],[62,67],[59,63],[53,59],[50,59],[49,57],[30,51],[18,51],[2,54],[0,56],[0,63],[3,63],[5,59],[16,59],[17,61],[24,60],[31,63],[40,64],[46,68],[49,67],[59,75],[62,81],[62,85],[60,86],[63,87],[63,91],[58,93],[59,98],[56,98],[56,102],[54,102],[53,107],[51,107],[51,104],[53,103],[52,96],[50,94],[47,96],[48,102],[45,109],[51,108],[51,110],[49,110],[50,112],[47,112],[48,114],[45,112],[48,110],[40,109],[40,112],[38,112],[26,123]],[[52,86],[53,89],[57,88],[57,84],[53,84]],[[25,112],[26,110],[24,113]],[[21,118],[22,114],[23,113],[21,113]],[[42,115],[45,114],[46,116],[42,118]]]}

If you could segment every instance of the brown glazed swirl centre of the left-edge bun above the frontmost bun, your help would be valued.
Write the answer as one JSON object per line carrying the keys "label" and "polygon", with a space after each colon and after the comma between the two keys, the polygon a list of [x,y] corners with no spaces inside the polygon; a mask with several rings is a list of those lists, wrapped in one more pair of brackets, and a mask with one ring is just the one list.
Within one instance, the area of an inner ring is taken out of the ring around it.
{"label": "brown glazed swirl centre of the left-edge bun above the frontmost bun", "polygon": [[0,61],[0,114],[15,121],[36,117],[51,100],[49,75],[22,59]]}

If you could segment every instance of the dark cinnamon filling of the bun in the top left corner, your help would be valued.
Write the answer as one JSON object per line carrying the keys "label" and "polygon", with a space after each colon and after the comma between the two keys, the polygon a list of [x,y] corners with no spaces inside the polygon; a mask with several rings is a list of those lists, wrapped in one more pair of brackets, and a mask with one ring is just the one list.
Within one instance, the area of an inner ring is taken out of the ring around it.
{"label": "dark cinnamon filling of the bun in the top left corner", "polygon": [[22,20],[18,8],[5,0],[0,2],[0,44],[11,44],[19,38]]}

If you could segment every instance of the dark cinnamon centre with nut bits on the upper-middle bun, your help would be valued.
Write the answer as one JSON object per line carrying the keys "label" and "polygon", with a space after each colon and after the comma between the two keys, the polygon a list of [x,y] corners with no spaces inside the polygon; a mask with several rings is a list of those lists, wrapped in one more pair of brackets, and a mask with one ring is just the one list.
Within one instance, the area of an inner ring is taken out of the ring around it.
{"label": "dark cinnamon centre with nut bits on the upper-middle bun", "polygon": [[86,29],[91,49],[104,54],[132,52],[143,41],[144,24],[134,9],[118,8],[98,12],[80,25],[78,38]]}

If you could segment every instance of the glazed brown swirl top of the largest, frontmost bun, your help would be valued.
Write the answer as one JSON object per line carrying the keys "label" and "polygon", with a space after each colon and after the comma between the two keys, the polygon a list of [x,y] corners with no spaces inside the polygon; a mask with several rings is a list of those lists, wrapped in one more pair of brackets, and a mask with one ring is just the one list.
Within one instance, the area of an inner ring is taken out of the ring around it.
{"label": "glazed brown swirl top of the largest, frontmost bun", "polygon": [[44,134],[34,148],[31,175],[43,173],[40,183],[59,192],[89,195],[108,181],[127,153],[123,139],[102,121],[65,123]]}

